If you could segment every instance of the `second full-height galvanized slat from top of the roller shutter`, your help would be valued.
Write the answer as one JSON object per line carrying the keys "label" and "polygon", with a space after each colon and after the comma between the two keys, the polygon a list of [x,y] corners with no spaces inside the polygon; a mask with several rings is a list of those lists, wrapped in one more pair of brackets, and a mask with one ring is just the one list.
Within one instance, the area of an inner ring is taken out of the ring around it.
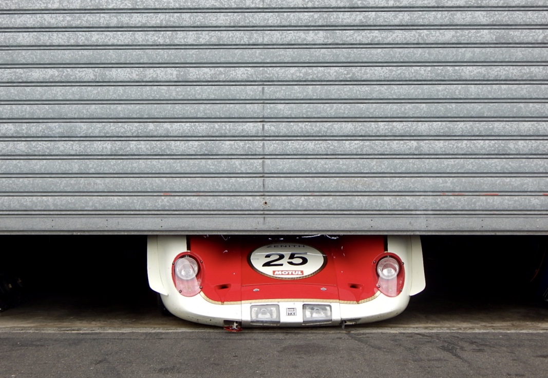
{"label": "second full-height galvanized slat from top of the roller shutter", "polygon": [[475,45],[546,44],[546,29],[2,32],[2,46]]}

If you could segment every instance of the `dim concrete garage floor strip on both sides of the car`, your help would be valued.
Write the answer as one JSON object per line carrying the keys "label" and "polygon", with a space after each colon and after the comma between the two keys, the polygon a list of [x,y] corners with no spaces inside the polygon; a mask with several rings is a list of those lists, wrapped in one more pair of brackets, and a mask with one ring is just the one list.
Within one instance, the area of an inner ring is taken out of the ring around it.
{"label": "dim concrete garage floor strip on both sides of the car", "polygon": [[[0,331],[110,331],[127,330],[214,330],[159,313],[152,294],[138,300],[43,295],[28,299],[22,305],[0,313]],[[387,321],[347,326],[390,332],[425,332],[427,330],[469,330],[548,332],[548,303],[535,301],[485,301],[481,298],[448,300],[436,295],[419,294],[408,309]],[[310,330],[310,328],[309,328]],[[323,330],[326,330],[323,328]]]}

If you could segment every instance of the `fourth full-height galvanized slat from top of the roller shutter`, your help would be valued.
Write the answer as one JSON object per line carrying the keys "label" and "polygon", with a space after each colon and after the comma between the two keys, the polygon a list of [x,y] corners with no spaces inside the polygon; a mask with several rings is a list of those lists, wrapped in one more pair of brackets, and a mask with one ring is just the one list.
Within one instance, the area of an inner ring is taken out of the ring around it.
{"label": "fourth full-height galvanized slat from top of the roller shutter", "polygon": [[[548,38],[548,35],[547,35]],[[123,80],[120,80],[123,78]],[[383,78],[382,80],[379,78]],[[37,80],[38,79],[38,80]],[[212,68],[10,68],[0,71],[3,83],[52,82],[370,82],[421,81],[523,81],[547,80],[545,66],[486,67],[474,66],[424,66],[424,67],[340,67],[335,63],[327,67],[212,67]],[[142,85],[142,84],[141,84]]]}

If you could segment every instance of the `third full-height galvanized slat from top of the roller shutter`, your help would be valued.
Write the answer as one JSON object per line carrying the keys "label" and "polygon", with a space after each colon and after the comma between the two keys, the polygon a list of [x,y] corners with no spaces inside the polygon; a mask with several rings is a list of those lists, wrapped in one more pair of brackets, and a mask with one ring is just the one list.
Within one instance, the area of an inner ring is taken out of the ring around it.
{"label": "third full-height galvanized slat from top of the roller shutter", "polygon": [[333,65],[477,63],[502,64],[546,62],[545,48],[264,48],[264,49],[92,49],[92,50],[0,50],[3,67],[43,65]]}

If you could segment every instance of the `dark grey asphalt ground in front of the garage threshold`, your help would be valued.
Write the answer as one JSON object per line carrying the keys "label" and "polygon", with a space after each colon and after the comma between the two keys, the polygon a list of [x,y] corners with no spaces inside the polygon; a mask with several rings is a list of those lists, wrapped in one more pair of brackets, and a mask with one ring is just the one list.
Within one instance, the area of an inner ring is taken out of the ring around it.
{"label": "dark grey asphalt ground in front of the garage threshold", "polygon": [[546,332],[0,332],[0,377],[546,377]]}

